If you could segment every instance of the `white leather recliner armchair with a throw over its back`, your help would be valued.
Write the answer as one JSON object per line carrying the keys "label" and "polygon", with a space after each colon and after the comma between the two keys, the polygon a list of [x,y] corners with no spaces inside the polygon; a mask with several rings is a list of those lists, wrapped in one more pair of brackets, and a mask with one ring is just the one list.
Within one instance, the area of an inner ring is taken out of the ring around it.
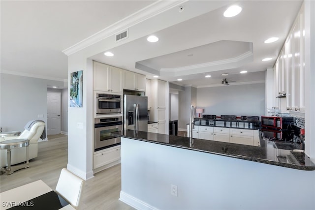
{"label": "white leather recliner armchair with a throw over its back", "polygon": [[[38,153],[38,139],[45,132],[45,122],[36,121],[32,124],[30,130],[25,129],[20,136],[4,136],[0,137],[0,142],[9,139],[29,139],[29,159],[37,157]],[[0,150],[0,167],[7,165],[6,161],[6,150]],[[23,163],[26,161],[26,148],[17,148],[11,150],[11,165]]]}

